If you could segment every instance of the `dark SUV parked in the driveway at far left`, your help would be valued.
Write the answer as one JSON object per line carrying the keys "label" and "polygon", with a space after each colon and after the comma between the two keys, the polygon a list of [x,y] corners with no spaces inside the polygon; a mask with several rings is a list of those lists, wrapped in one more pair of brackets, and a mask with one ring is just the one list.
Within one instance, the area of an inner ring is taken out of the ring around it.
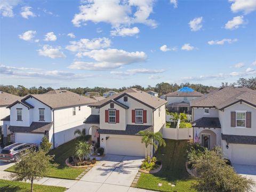
{"label": "dark SUV parked in the driveway at far left", "polygon": [[25,155],[25,153],[22,152],[26,149],[37,150],[37,145],[35,143],[13,143],[2,149],[0,153],[0,161],[17,162],[22,155]]}

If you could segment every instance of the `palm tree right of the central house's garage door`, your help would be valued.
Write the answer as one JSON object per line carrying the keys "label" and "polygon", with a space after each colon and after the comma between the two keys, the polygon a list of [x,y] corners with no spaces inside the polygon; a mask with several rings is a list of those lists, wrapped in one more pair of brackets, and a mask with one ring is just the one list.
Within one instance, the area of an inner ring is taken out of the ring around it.
{"label": "palm tree right of the central house's garage door", "polygon": [[147,161],[148,161],[148,163],[151,163],[152,150],[150,150],[150,156],[148,159],[148,145],[153,146],[155,150],[157,150],[157,148],[158,148],[158,146],[156,145],[156,142],[159,144],[159,146],[165,147],[166,143],[163,139],[163,135],[160,132],[154,133],[153,131],[140,131],[139,134],[142,136],[141,143],[145,143],[145,146],[146,146]]}

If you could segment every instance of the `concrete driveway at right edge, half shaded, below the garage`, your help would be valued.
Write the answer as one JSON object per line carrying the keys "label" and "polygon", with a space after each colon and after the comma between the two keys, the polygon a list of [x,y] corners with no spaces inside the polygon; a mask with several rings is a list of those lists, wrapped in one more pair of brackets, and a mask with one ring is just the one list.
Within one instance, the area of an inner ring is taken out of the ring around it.
{"label": "concrete driveway at right edge, half shaded, below the garage", "polygon": [[[241,174],[248,179],[252,179],[256,183],[256,165],[234,164],[233,167],[238,174]],[[253,188],[253,191],[256,192],[256,186]]]}

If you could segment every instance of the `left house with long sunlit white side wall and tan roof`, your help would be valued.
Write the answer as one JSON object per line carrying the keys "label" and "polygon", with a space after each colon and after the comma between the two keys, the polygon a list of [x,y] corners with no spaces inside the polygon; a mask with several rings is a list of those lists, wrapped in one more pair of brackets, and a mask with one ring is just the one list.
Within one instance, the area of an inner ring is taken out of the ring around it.
{"label": "left house with long sunlit white side wall and tan roof", "polygon": [[65,90],[27,95],[7,106],[10,117],[4,119],[4,129],[13,133],[14,142],[39,144],[46,136],[57,147],[74,139],[76,129],[85,128],[83,121],[91,115],[88,105],[93,102],[96,101]]}

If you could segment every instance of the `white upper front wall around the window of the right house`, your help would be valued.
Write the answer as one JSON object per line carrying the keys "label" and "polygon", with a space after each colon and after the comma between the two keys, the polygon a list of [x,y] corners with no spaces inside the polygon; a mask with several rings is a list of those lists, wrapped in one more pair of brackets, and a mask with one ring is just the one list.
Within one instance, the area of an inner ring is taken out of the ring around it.
{"label": "white upper front wall around the window of the right house", "polygon": [[[250,111],[252,114],[251,128],[237,128],[231,127],[231,111],[244,110]],[[245,103],[236,103],[233,106],[225,108],[224,111],[219,111],[219,119],[223,134],[234,134],[234,135],[250,135],[256,136],[256,108],[249,106]]]}

